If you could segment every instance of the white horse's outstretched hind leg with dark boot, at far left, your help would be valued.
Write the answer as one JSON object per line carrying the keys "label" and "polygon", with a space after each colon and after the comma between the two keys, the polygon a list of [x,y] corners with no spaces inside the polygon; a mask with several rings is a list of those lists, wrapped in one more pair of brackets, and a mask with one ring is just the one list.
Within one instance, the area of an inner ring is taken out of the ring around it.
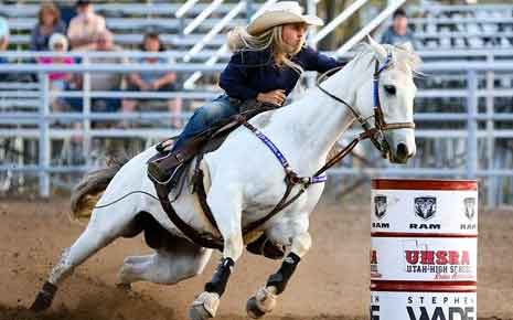
{"label": "white horse's outstretched hind leg with dark boot, at far left", "polygon": [[38,294],[35,301],[31,306],[31,310],[43,311],[47,309],[55,296],[57,285],[70,276],[75,267],[120,235],[122,227],[127,224],[114,221],[115,218],[109,222],[99,218],[101,215],[105,216],[107,214],[109,214],[109,212],[105,211],[96,211],[93,213],[92,221],[87,225],[87,228],[70,248],[64,249],[61,259],[52,268],[49,279]]}

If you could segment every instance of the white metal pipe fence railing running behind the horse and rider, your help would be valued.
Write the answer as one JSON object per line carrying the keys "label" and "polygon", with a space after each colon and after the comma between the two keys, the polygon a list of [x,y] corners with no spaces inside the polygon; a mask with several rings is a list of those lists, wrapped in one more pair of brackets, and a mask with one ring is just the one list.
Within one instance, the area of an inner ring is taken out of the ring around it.
{"label": "white metal pipe fence railing running behind the horse and rider", "polygon": [[[10,55],[7,53],[6,55]],[[19,53],[12,54],[34,56],[44,53]],[[75,55],[84,55],[85,53],[76,53]],[[105,53],[89,53],[92,56]],[[120,53],[116,53],[120,54]],[[139,55],[153,55],[145,53],[128,52],[122,53],[129,56]],[[443,53],[440,53],[443,54]],[[451,53],[446,53],[450,55]],[[455,54],[455,53],[452,53]],[[481,53],[480,53],[481,54]],[[160,53],[160,55],[163,55]],[[432,53],[431,53],[432,57]],[[461,88],[445,88],[445,89],[430,89],[420,88],[418,98],[459,98],[463,99],[464,111],[462,113],[417,113],[415,119],[420,125],[416,130],[416,137],[419,140],[419,146],[429,147],[431,143],[453,143],[458,148],[463,148],[463,160],[460,164],[446,166],[439,161],[439,154],[430,154],[427,151],[419,150],[418,159],[407,167],[389,166],[385,162],[377,161],[373,168],[359,168],[355,163],[345,163],[342,167],[331,170],[331,174],[335,177],[361,177],[362,174],[380,174],[380,175],[394,175],[394,177],[451,177],[451,178],[479,178],[484,180],[485,203],[490,206],[496,206],[503,203],[511,203],[504,200],[504,185],[506,190],[511,190],[513,185],[513,160],[503,154],[499,157],[498,152],[502,149],[499,141],[513,138],[513,128],[496,128],[498,121],[513,120],[512,113],[498,113],[494,108],[494,99],[498,97],[511,97],[511,88],[495,88],[493,86],[494,77],[496,74],[510,73],[513,74],[513,63],[511,61],[495,62],[493,57],[484,56],[483,61],[478,62],[427,62],[423,66],[423,72],[442,76],[443,74],[452,77],[460,77],[461,82],[466,83],[466,87]],[[52,174],[63,172],[84,172],[92,169],[96,164],[86,161],[77,166],[70,164],[55,164],[52,163],[51,143],[54,140],[66,140],[76,135],[84,137],[84,154],[90,153],[93,139],[99,138],[130,138],[139,137],[147,141],[162,139],[173,135],[170,128],[132,128],[130,130],[120,128],[92,128],[93,120],[122,120],[122,119],[159,119],[169,117],[168,113],[93,113],[90,103],[88,102],[94,97],[117,97],[117,98],[162,98],[170,99],[181,97],[183,99],[207,100],[215,97],[217,90],[201,90],[201,92],[172,92],[172,93],[133,93],[133,92],[92,92],[87,82],[82,92],[62,92],[58,94],[63,97],[82,97],[84,99],[84,110],[82,113],[52,113],[50,109],[50,83],[47,78],[49,73],[54,72],[73,72],[73,73],[131,73],[152,71],[156,65],[114,65],[114,64],[97,64],[85,65],[76,64],[71,66],[58,65],[38,65],[38,64],[10,64],[2,66],[2,72],[6,73],[35,73],[39,74],[39,89],[34,92],[34,85],[30,85],[33,98],[39,98],[39,105],[32,111],[3,111],[0,113],[0,128],[2,125],[15,125],[13,128],[0,129],[0,139],[28,139],[38,141],[38,161],[31,164],[23,164],[23,161],[6,162],[6,159],[0,164],[0,172],[6,174],[19,173],[35,173],[39,177],[39,190],[41,195],[47,196],[51,193]],[[165,64],[157,65],[159,70],[169,70],[178,73],[193,73],[202,71],[205,73],[218,72],[224,67],[223,64]],[[485,85],[480,86],[479,82],[484,79]],[[9,88],[7,88],[9,89]],[[2,95],[0,89],[0,97]],[[7,93],[7,92],[6,92]],[[29,93],[29,92],[26,92]],[[13,95],[23,95],[14,93]],[[8,95],[7,95],[8,96]],[[30,96],[26,94],[25,96]],[[483,100],[484,99],[484,100]],[[15,109],[15,108],[14,108]],[[481,110],[480,110],[481,109]],[[189,114],[184,114],[184,117]],[[75,120],[83,124],[82,129],[71,128],[55,128],[52,124],[55,120]],[[424,128],[423,124],[447,124],[455,121],[464,124],[458,128],[445,129],[429,129]],[[349,135],[355,135],[356,131],[352,130]],[[350,136],[349,136],[350,137]],[[450,142],[453,141],[453,142]],[[463,143],[464,141],[464,143]],[[505,152],[505,151],[501,151]],[[511,152],[511,150],[510,150]],[[371,152],[371,154],[373,154]],[[499,158],[500,160],[498,160]],[[17,158],[18,159],[18,158]],[[426,164],[427,163],[427,164]],[[22,174],[24,175],[24,174]],[[30,175],[30,174],[29,174]],[[505,180],[510,182],[504,182]],[[505,184],[504,184],[505,183]],[[501,194],[502,192],[502,194]]]}

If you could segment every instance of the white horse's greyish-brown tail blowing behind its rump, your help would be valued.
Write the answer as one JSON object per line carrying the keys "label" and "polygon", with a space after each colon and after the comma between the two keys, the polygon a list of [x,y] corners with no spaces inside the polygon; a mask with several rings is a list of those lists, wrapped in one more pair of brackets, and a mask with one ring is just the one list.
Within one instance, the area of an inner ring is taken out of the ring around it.
{"label": "white horse's greyish-brown tail blowing behind its rump", "polygon": [[89,218],[94,206],[114,175],[128,161],[126,156],[113,157],[107,160],[106,168],[88,172],[72,192],[71,216],[75,220]]}

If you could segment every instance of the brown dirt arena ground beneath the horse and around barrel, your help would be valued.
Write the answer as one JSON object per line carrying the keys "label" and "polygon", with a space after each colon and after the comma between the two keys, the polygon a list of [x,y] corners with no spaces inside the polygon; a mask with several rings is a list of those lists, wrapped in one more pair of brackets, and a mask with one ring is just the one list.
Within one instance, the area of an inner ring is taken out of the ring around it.
{"label": "brown dirt arena ground beneath the horse and around barrel", "polygon": [[[136,284],[130,294],[115,287],[127,255],[146,254],[142,238],[119,239],[76,269],[50,311],[26,310],[61,250],[82,226],[67,218],[66,199],[0,199],[0,320],[174,320],[186,319],[189,303],[213,273],[177,286]],[[311,225],[313,247],[304,257],[268,320],[368,319],[368,207],[324,201]],[[513,211],[480,212],[480,320],[513,319]],[[216,256],[217,257],[217,256]],[[265,284],[277,262],[244,254],[222,299],[216,319],[246,319],[245,303]]]}

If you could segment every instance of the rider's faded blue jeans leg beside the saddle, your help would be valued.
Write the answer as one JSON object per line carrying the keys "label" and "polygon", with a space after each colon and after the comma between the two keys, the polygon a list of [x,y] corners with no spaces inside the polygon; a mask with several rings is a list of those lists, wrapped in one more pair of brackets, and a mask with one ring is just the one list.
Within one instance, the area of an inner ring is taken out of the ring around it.
{"label": "rider's faded blue jeans leg beside the saddle", "polygon": [[209,129],[212,125],[225,120],[238,113],[238,104],[234,103],[227,95],[221,95],[211,103],[197,108],[192,115],[183,131],[174,142],[174,151],[182,147],[183,142]]}

